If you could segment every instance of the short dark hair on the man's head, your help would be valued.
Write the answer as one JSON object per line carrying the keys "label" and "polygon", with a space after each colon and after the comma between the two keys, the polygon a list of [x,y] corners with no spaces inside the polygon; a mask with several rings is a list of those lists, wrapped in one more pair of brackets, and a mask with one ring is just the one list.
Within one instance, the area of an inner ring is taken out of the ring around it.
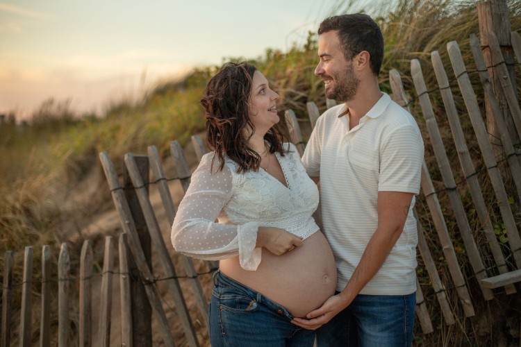
{"label": "short dark hair on the man's head", "polygon": [[338,31],[340,49],[346,60],[351,60],[361,51],[370,54],[370,67],[374,74],[380,74],[383,60],[383,36],[374,20],[363,13],[339,15],[324,19],[318,28],[318,35],[328,31]]}

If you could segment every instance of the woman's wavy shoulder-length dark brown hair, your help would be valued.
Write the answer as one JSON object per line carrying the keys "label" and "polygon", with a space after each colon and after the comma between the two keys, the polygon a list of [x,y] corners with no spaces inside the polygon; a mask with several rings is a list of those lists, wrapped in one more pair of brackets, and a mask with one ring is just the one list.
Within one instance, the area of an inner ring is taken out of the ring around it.
{"label": "woman's wavy shoulder-length dark brown hair", "polygon": [[[260,167],[261,156],[248,146],[251,135],[247,137],[243,132],[246,127],[255,131],[249,119],[255,71],[256,67],[248,62],[226,62],[210,79],[201,98],[206,112],[206,145],[220,159],[220,170],[224,167],[224,155],[239,165],[238,172],[258,170]],[[284,155],[282,143],[285,138],[278,124],[268,130],[264,139],[270,153]]]}

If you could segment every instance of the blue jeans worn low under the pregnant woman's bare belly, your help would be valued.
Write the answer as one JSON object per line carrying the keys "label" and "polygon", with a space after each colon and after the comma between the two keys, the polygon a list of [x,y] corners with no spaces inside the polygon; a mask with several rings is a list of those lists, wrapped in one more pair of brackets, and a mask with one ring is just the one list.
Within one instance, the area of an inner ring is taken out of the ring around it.
{"label": "blue jeans worn low under the pregnant woman's bare belly", "polygon": [[281,305],[217,271],[210,299],[210,343],[213,347],[313,346],[315,332],[290,323]]}

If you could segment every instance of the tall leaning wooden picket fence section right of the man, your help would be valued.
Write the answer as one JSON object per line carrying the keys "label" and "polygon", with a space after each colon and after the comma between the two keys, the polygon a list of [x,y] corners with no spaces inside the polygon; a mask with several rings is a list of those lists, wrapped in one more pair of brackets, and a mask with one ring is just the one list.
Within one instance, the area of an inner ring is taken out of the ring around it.
{"label": "tall leaning wooden picket fence section right of the man", "polygon": [[[512,35],[513,37],[519,37],[515,32],[513,32]],[[474,62],[477,66],[477,71],[479,73],[481,83],[483,84],[483,89],[488,96],[488,100],[492,105],[495,115],[500,115],[497,99],[495,98],[495,95],[490,87],[488,71],[483,59],[483,53],[481,52],[479,41],[477,40],[477,37],[471,35],[470,42],[474,56]],[[513,40],[513,42],[517,42],[516,44],[520,43],[519,40]],[[518,135],[521,138],[520,106],[517,101],[517,97],[515,97],[516,93],[513,90],[511,83],[509,83],[510,80],[508,78],[508,73],[506,72],[506,65],[502,58],[502,53],[499,49],[499,44],[497,44],[497,39],[494,33],[490,33],[488,35],[488,44],[493,54],[493,64],[497,64],[502,72],[504,70],[504,76],[507,76],[506,81],[508,81],[508,85],[504,85],[504,92],[506,95],[508,95],[508,106],[512,112]],[[521,52],[519,51],[519,48],[520,47],[518,46],[516,53]],[[515,285],[513,284],[521,280],[521,238],[518,231],[518,226],[516,226],[515,223],[513,211],[511,210],[510,203],[508,201],[508,195],[506,193],[503,178],[499,171],[498,161],[494,156],[493,148],[489,142],[486,127],[483,123],[483,117],[481,117],[481,111],[479,110],[479,105],[477,103],[472,84],[470,83],[468,71],[466,70],[463,63],[463,58],[461,57],[458,44],[456,42],[449,42],[447,44],[447,51],[452,63],[454,75],[456,76],[458,82],[459,90],[463,95],[465,106],[472,122],[472,127],[474,128],[477,141],[479,143],[479,149],[481,150],[481,155],[486,166],[488,177],[490,178],[490,183],[493,185],[495,198],[499,204],[502,220],[504,221],[504,225],[506,227],[509,244],[509,255],[513,256],[513,263],[515,264],[514,266],[517,268],[517,270],[509,270],[506,266],[504,254],[499,246],[495,231],[493,230],[493,224],[490,221],[488,208],[485,205],[483,193],[477,180],[477,171],[475,170],[474,164],[472,163],[472,158],[470,157],[467,144],[465,144],[465,137],[461,128],[459,115],[454,105],[454,98],[449,85],[449,79],[447,78],[445,67],[443,67],[443,63],[440,59],[440,54],[438,51],[431,52],[431,62],[436,74],[436,79],[438,81],[438,89],[442,94],[443,103],[445,105],[445,112],[452,130],[452,136],[454,137],[454,146],[456,146],[458,158],[461,163],[461,169],[463,170],[463,174],[465,176],[465,183],[468,185],[468,189],[472,196],[472,201],[481,221],[483,235],[486,237],[488,246],[490,247],[490,252],[493,254],[495,269],[499,271],[499,275],[492,275],[490,271],[492,269],[486,269],[483,265],[483,260],[480,256],[480,252],[477,248],[474,236],[472,235],[472,230],[470,229],[467,213],[461,201],[461,196],[458,194],[458,188],[456,181],[454,180],[454,174],[452,172],[454,169],[451,169],[450,167],[447,153],[445,152],[445,147],[441,140],[440,131],[436,124],[436,118],[434,117],[433,108],[429,99],[429,92],[427,90],[427,86],[425,85],[422,69],[418,60],[411,60],[411,74],[416,94],[420,101],[425,124],[429,133],[431,146],[436,155],[438,167],[442,176],[444,185],[443,189],[445,189],[447,192],[449,203],[454,212],[458,231],[461,233],[461,238],[465,244],[465,251],[468,255],[474,276],[478,280],[483,298],[488,301],[494,297],[492,289],[498,287],[504,287],[506,294],[514,294],[516,292]],[[517,55],[517,60],[518,62],[521,62],[520,54]],[[402,87],[402,81],[399,78],[399,74],[397,74],[396,71],[391,71],[390,80],[394,99],[406,107],[406,105],[408,105],[408,100],[406,94],[404,93],[404,88]],[[521,198],[521,155],[520,153],[515,152],[502,117],[495,117],[495,121],[499,131],[502,133],[501,140],[504,146],[505,157],[508,162],[508,169],[511,171],[511,177],[513,178],[515,185],[515,193],[513,194],[517,196],[519,201],[519,198]],[[447,265],[454,282],[454,287],[456,287],[458,297],[461,301],[461,305],[463,306],[465,316],[474,316],[475,312],[474,307],[472,306],[472,302],[470,301],[468,284],[465,282],[461,273],[461,266],[459,266],[458,261],[456,260],[456,253],[454,252],[454,246],[447,231],[447,223],[443,217],[442,208],[438,200],[438,194],[433,187],[433,183],[427,169],[427,164],[425,164],[425,162],[422,168],[421,186],[424,198],[427,201],[434,228],[438,234],[445,258],[447,259]],[[429,252],[429,248],[427,247],[427,242],[424,235],[424,230],[422,230],[422,226],[420,225],[418,228],[418,248],[420,250],[425,267],[429,272],[429,276],[433,282],[433,287],[437,293],[438,302],[442,309],[445,321],[447,324],[452,324],[454,323],[454,317],[452,316],[452,312],[449,310],[447,298],[445,298],[443,287],[440,284],[438,273],[433,265],[434,263]],[[418,290],[417,292],[417,303],[422,303],[421,290]],[[427,316],[426,312],[427,311],[424,307],[422,307],[422,305],[417,305],[417,314],[420,318],[420,323],[422,323],[423,330],[432,331],[429,317]]]}

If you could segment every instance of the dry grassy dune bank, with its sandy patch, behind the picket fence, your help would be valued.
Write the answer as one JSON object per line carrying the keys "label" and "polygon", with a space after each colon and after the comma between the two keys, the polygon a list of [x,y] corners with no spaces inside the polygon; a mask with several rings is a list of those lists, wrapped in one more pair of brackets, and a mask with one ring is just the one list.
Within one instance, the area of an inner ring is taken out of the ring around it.
{"label": "dry grassy dune bank, with its sandy patch, behind the picket fence", "polygon": [[[465,62],[468,62],[468,69],[475,69],[468,47],[470,33],[479,32],[475,3],[475,1],[447,0],[379,1],[378,6],[366,10],[377,18],[386,42],[385,58],[379,80],[381,87],[386,92],[390,92],[388,81],[390,69],[397,69],[402,74],[408,99],[411,100],[411,112],[415,115],[424,134],[427,134],[427,130],[422,112],[416,102],[417,96],[413,92],[412,80],[408,77],[411,76],[410,60],[413,58],[420,60],[429,90],[437,89],[436,77],[430,63],[431,51],[440,51],[447,72],[450,70],[451,65],[445,49],[447,42],[456,40]],[[338,3],[332,12],[352,12],[355,6],[354,1],[343,1]],[[519,30],[521,3],[509,1],[509,6],[512,28]],[[267,49],[265,56],[254,60],[281,95],[281,111],[292,109],[296,112],[305,139],[309,130],[309,126],[306,125],[306,102],[314,101],[320,110],[325,109],[322,83],[313,74],[316,62],[316,36],[313,33],[308,35],[308,41],[304,46],[294,46],[288,52]],[[12,250],[15,254],[14,281],[21,283],[24,247],[32,245],[35,253],[35,280],[38,282],[42,245],[51,246],[53,263],[56,264],[62,242],[69,244],[72,266],[73,269],[77,269],[81,243],[72,240],[82,239],[85,225],[93,222],[101,212],[114,209],[97,154],[100,151],[108,151],[112,158],[122,158],[128,151],[144,153],[147,146],[155,144],[161,155],[166,156],[172,139],[178,139],[181,144],[186,144],[190,135],[199,132],[204,126],[198,99],[206,81],[215,72],[215,68],[197,69],[181,82],[158,85],[137,103],[121,101],[110,105],[106,115],[101,118],[87,115],[80,119],[69,110],[67,102],[47,101],[35,113],[31,125],[16,125],[9,118],[3,121],[0,124],[0,273],[3,273],[3,252]],[[519,65],[515,69],[518,76],[521,76]],[[483,92],[479,87],[477,74],[470,74],[470,77],[475,86],[474,92],[481,97]],[[453,81],[453,85],[456,85],[453,74],[449,73],[449,79]],[[520,84],[518,81],[518,86]],[[477,150],[472,126],[465,115],[465,105],[457,88],[453,91],[474,165],[481,168],[483,167],[481,155]],[[440,95],[438,92],[433,92],[431,95],[431,103],[446,144],[447,155],[452,162],[452,167],[459,168]],[[482,105],[482,99],[480,103]],[[440,173],[427,137],[425,143],[427,144],[425,160],[429,165],[436,189],[441,190],[443,185]],[[121,173],[121,162],[115,161],[115,164]],[[463,181],[459,171],[454,170],[456,182]],[[480,172],[479,180],[487,205],[490,206],[491,219],[500,236],[504,232],[504,227],[485,171]],[[505,182],[510,189],[512,183],[508,180],[508,175]],[[465,185],[459,185],[458,190],[465,209],[468,210],[468,219],[486,267],[493,267],[493,260],[486,240],[480,235],[479,219],[473,211],[472,201]],[[510,189],[509,192],[513,191]],[[511,196],[514,194],[511,193]],[[498,291],[493,301],[483,302],[477,282],[472,278],[465,247],[444,192],[440,192],[440,201],[447,206],[443,211],[444,217],[462,272],[471,283],[471,296],[478,314],[472,319],[463,318],[464,314],[458,303],[459,299],[452,280],[449,278],[443,251],[438,245],[436,232],[430,227],[428,209],[420,197],[417,205],[420,219],[424,228],[430,230],[427,241],[458,321],[455,325],[445,325],[427,271],[423,270],[420,261],[418,269],[420,283],[436,332],[422,335],[420,328],[417,327],[416,344],[419,346],[506,346],[515,341],[515,336],[519,336],[520,312],[515,307],[521,307],[520,297],[504,296]],[[513,199],[513,203],[519,201]],[[520,216],[516,215],[516,217],[519,221]],[[117,235],[119,231],[118,227],[110,230],[113,235]],[[94,239],[98,248],[95,252],[98,262],[101,262],[99,251],[102,248],[101,242],[101,237]],[[73,271],[72,276],[74,275]],[[15,307],[19,307],[18,290],[19,286],[13,303]],[[39,285],[35,285],[33,291],[35,296],[38,296]],[[15,312],[15,316],[17,314]],[[14,323],[17,324],[16,321]],[[36,325],[38,323],[33,324]],[[77,321],[73,319],[72,335],[77,332],[77,325]],[[55,325],[53,326],[56,328]],[[35,334],[36,332],[37,330]]]}

